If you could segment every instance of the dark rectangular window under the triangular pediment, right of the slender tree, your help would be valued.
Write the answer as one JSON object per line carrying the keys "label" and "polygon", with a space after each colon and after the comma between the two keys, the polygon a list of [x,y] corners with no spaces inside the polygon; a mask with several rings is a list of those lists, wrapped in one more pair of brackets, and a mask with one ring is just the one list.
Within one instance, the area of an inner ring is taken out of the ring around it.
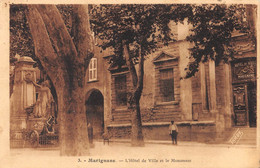
{"label": "dark rectangular window under the triangular pediment, right of the slender tree", "polygon": [[174,101],[173,68],[160,70],[161,102]]}

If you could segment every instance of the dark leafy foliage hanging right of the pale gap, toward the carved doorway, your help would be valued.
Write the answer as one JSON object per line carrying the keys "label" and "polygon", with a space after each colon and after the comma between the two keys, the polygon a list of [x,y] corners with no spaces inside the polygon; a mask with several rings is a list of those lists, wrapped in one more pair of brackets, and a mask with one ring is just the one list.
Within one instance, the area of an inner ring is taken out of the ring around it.
{"label": "dark leafy foliage hanging right of the pale gap, toward the carved doorway", "polygon": [[221,61],[233,59],[232,34],[248,32],[243,5],[192,5],[188,23],[192,25],[187,37],[194,46],[191,48],[191,62],[187,77],[193,76],[200,62],[212,59],[218,65]]}

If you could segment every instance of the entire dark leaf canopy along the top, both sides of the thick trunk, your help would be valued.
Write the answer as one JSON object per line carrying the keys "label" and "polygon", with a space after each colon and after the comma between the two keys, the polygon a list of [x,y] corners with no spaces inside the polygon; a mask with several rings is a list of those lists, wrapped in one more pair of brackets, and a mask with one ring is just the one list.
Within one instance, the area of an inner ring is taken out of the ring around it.
{"label": "entire dark leaf canopy along the top, both sides of the thick trunk", "polygon": [[[136,43],[143,41],[145,55],[158,49],[162,42],[174,41],[168,26],[172,20],[182,22],[188,19],[193,28],[187,40],[194,44],[191,49],[191,63],[187,77],[193,76],[199,62],[209,58],[219,63],[233,57],[232,32],[248,32],[246,5],[91,5],[91,26],[102,40],[103,49],[112,47],[116,57],[112,62],[124,64],[122,40],[131,44],[131,53],[136,56]],[[247,5],[248,6],[248,5]],[[57,5],[70,35],[73,36],[72,5]],[[34,45],[25,17],[25,5],[10,6],[10,61],[14,56],[34,56]],[[138,29],[138,30],[137,30]],[[160,33],[159,33],[160,32]],[[135,62],[137,59],[135,58]]]}

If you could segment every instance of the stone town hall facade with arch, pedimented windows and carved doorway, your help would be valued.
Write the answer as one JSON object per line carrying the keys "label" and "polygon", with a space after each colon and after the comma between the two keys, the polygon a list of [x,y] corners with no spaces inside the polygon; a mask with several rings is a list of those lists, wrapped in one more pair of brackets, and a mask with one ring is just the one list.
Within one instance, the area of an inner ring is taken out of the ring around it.
{"label": "stone town hall facade with arch, pedimented windows and carved doorway", "polygon": [[[201,63],[194,77],[181,79],[189,62],[189,25],[174,25],[173,30],[177,41],[145,60],[140,100],[145,139],[169,140],[171,120],[179,127],[179,139],[187,141],[223,140],[237,126],[256,127],[255,44],[244,34],[234,34],[234,60],[218,66],[214,61]],[[95,138],[106,131],[115,138],[130,138],[130,74],[126,67],[110,66],[112,54],[96,48],[86,75],[86,114]]]}

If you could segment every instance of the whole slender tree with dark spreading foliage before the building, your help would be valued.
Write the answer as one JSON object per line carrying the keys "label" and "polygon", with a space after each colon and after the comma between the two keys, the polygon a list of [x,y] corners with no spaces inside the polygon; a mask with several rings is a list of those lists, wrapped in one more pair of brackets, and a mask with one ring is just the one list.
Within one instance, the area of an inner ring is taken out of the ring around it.
{"label": "whole slender tree with dark spreading foliage before the building", "polygon": [[[99,46],[113,48],[112,64],[127,65],[131,87],[128,109],[132,114],[132,145],[142,146],[140,98],[143,90],[145,57],[162,44],[173,41],[170,22],[184,19],[193,27],[187,39],[194,44],[186,77],[193,76],[200,62],[232,58],[232,32],[246,30],[243,5],[96,5],[91,26],[99,37]],[[138,64],[138,66],[136,66]],[[138,67],[138,70],[137,70]],[[146,72],[147,73],[147,72]]]}

